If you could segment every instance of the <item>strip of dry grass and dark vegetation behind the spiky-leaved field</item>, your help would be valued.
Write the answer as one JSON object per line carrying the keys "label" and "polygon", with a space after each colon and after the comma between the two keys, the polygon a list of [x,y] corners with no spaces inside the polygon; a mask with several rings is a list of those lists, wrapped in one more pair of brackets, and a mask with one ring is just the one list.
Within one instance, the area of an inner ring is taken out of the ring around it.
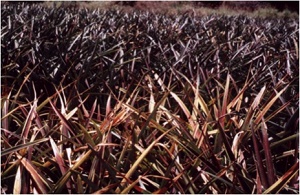
{"label": "strip of dry grass and dark vegetation behind the spiky-leaved field", "polygon": [[196,16],[246,15],[260,18],[297,18],[299,2],[297,1],[86,1],[53,2],[41,4],[46,7],[69,7],[94,9],[118,9],[122,12],[147,11],[164,15],[194,14]]}

